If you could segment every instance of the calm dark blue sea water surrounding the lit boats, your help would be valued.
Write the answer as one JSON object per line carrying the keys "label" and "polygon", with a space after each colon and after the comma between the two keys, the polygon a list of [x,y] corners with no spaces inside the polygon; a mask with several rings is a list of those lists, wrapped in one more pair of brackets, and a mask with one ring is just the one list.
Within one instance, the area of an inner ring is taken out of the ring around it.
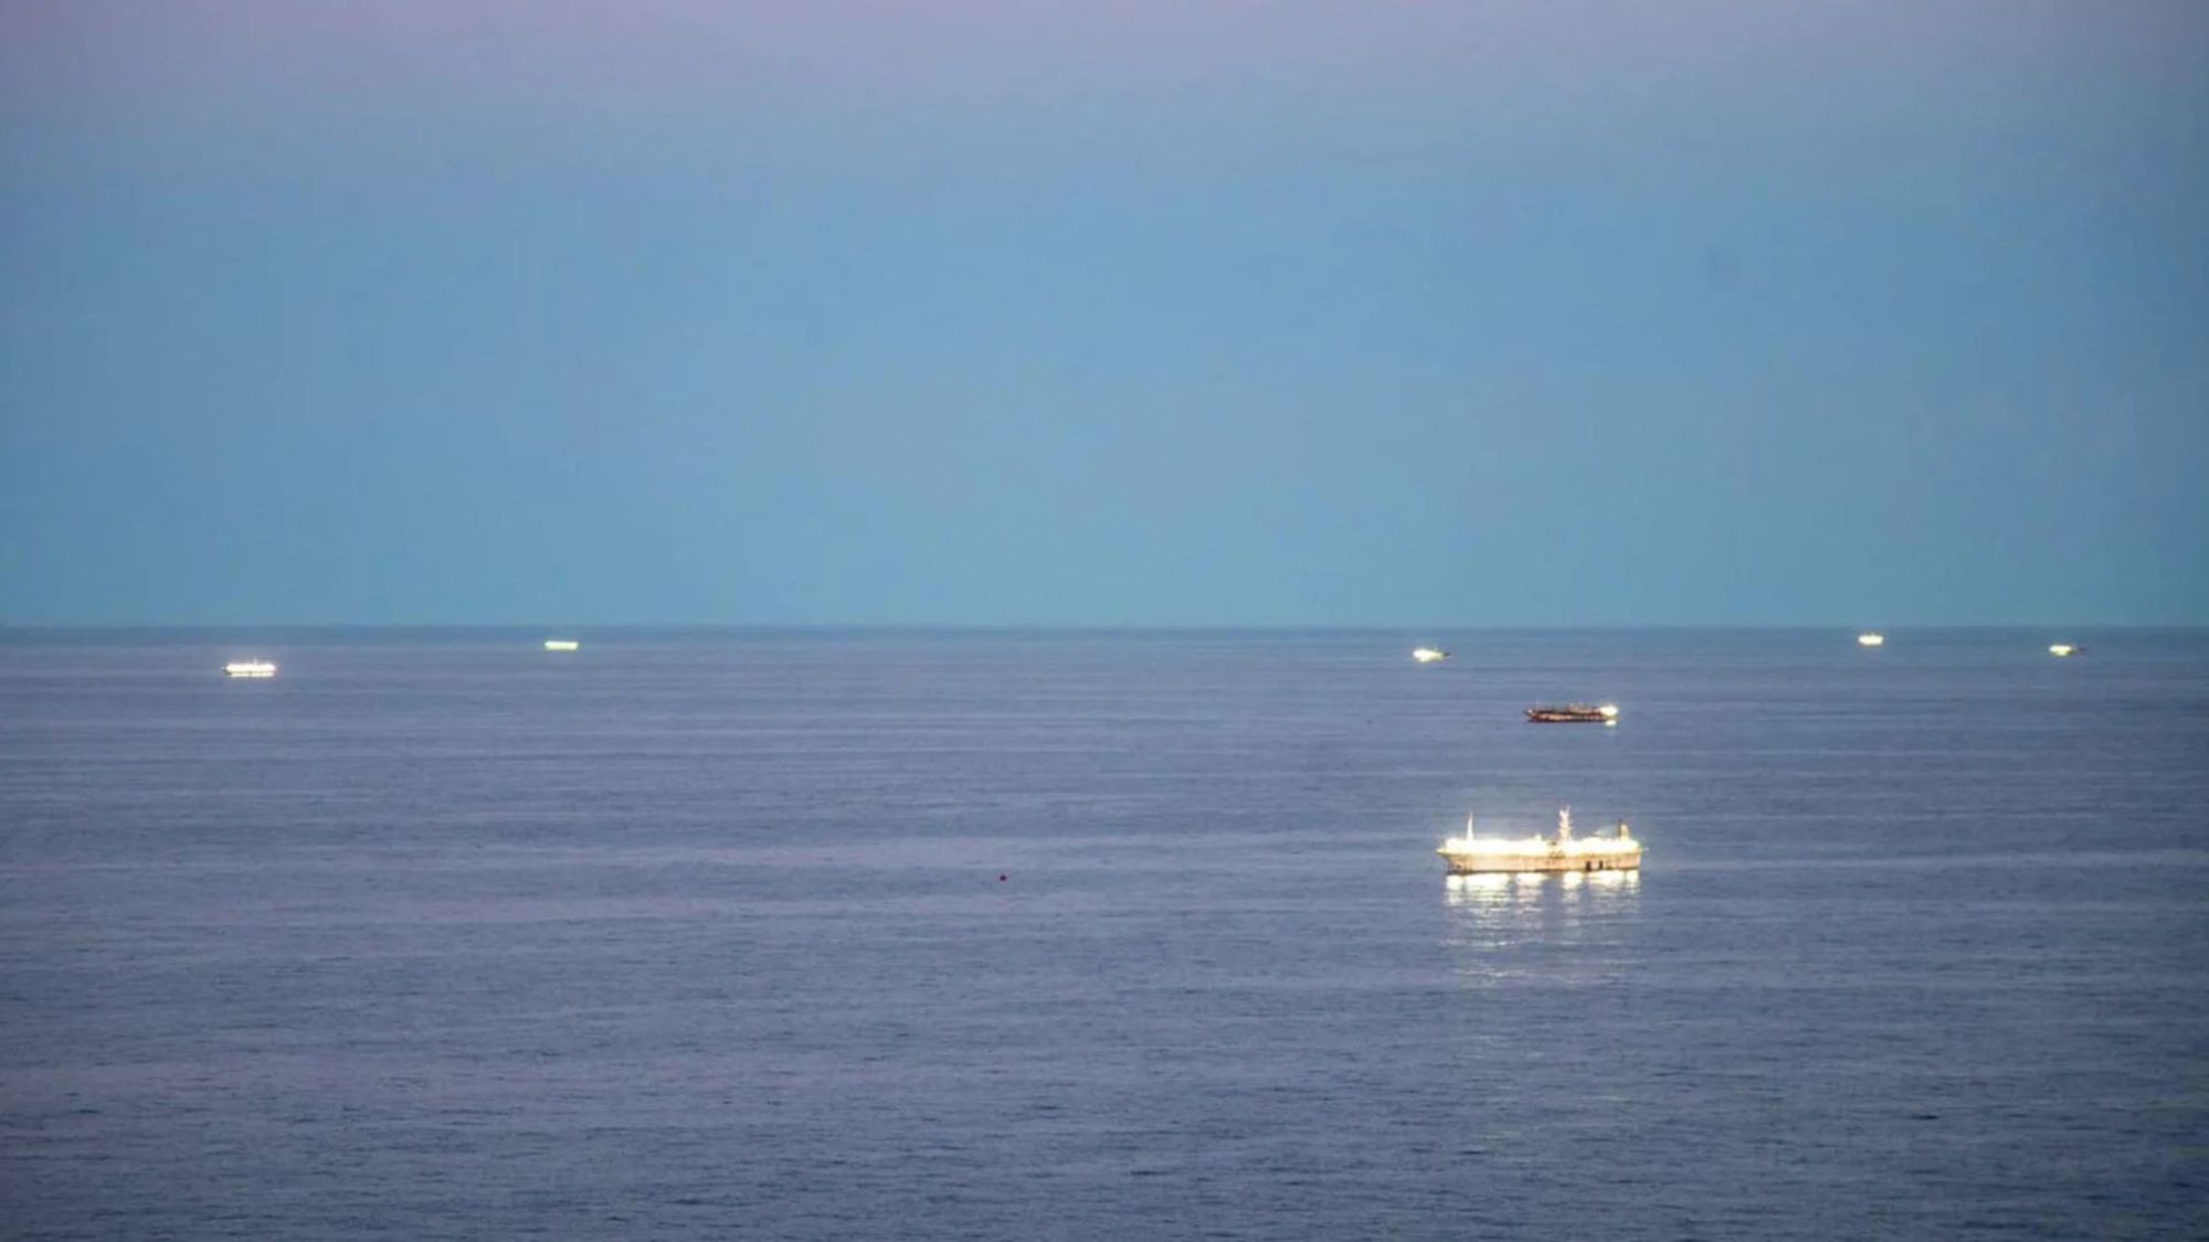
{"label": "calm dark blue sea water surrounding the lit boats", "polygon": [[0,636],[0,1235],[2209,1235],[2205,632],[541,636]]}

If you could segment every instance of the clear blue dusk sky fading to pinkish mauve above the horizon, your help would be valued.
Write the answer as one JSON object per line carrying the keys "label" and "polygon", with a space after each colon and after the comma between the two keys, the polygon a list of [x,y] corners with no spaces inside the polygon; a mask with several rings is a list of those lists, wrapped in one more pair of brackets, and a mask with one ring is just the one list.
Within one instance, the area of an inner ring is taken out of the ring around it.
{"label": "clear blue dusk sky fading to pinkish mauve above the horizon", "polygon": [[0,0],[0,623],[2209,623],[2209,7]]}

